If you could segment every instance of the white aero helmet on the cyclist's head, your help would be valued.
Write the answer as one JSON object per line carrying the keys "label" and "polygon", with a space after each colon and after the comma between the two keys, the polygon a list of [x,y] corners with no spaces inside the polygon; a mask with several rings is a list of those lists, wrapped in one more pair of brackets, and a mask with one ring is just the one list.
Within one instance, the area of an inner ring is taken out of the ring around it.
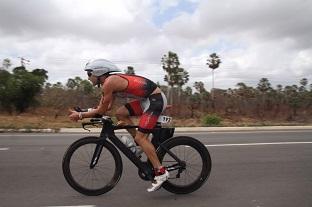
{"label": "white aero helmet on the cyclist's head", "polygon": [[111,72],[121,72],[116,65],[105,59],[96,59],[88,62],[84,70],[91,72],[94,76],[101,76]]}

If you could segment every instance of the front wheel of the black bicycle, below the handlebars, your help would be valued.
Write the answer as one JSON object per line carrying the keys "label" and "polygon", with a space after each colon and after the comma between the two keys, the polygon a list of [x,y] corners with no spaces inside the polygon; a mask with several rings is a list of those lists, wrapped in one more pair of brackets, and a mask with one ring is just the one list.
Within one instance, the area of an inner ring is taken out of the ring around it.
{"label": "front wheel of the black bicycle, below the handlebars", "polygon": [[[97,164],[91,167],[97,146],[101,148],[101,154]],[[85,137],[74,142],[64,155],[62,167],[68,184],[88,196],[110,191],[122,174],[122,160],[118,150],[98,137]]]}

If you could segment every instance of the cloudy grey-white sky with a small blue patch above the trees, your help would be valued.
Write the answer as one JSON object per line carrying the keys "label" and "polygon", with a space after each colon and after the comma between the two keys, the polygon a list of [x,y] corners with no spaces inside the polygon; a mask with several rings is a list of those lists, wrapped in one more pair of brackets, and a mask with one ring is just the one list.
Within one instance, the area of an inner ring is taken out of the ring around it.
{"label": "cloudy grey-white sky with a small blue patch above the trees", "polygon": [[189,86],[211,88],[209,54],[222,64],[215,86],[312,83],[311,0],[0,0],[0,61],[19,57],[49,82],[85,77],[90,59],[164,83],[161,57],[176,52]]}

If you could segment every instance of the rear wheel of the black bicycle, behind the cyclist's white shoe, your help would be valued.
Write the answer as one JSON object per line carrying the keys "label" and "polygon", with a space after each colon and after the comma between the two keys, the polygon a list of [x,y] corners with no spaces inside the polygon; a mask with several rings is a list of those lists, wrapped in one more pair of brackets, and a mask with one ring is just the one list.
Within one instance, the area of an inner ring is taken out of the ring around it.
{"label": "rear wheel of the black bicycle, behind the cyclist's white shoe", "polygon": [[211,158],[201,142],[192,137],[181,136],[169,139],[163,146],[183,162],[179,163],[164,148],[158,148],[160,162],[170,171],[168,181],[162,185],[164,189],[176,194],[187,194],[206,182],[211,171]]}

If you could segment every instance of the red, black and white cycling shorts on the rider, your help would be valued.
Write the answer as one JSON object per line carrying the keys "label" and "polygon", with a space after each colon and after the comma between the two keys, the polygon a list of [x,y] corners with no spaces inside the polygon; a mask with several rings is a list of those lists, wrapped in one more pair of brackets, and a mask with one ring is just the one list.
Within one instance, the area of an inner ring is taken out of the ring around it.
{"label": "red, black and white cycling shorts on the rider", "polygon": [[142,133],[152,131],[166,106],[167,99],[163,93],[152,94],[146,99],[135,100],[125,105],[130,116],[141,116],[138,130]]}

